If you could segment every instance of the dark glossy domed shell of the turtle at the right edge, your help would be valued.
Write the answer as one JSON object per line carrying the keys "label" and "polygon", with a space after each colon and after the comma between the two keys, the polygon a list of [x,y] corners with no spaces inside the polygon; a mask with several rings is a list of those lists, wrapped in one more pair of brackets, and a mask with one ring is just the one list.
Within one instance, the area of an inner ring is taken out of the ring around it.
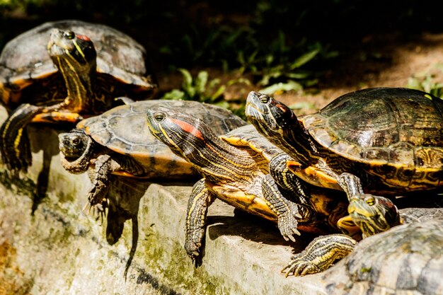
{"label": "dark glossy domed shell of the turtle at the right edge", "polygon": [[405,186],[412,178],[436,185],[442,179],[443,100],[428,93],[408,88],[355,91],[299,122],[328,151],[364,163],[374,174],[392,172],[396,175],[388,178],[404,178]]}

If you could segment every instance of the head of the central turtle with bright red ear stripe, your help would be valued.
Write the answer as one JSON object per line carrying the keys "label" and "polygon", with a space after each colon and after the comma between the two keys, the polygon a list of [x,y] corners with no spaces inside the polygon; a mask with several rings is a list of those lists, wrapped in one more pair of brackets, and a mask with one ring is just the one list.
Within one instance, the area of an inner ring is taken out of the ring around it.
{"label": "head of the central turtle with bright red ear stripe", "polygon": [[146,120],[154,137],[174,154],[197,166],[198,158],[202,158],[197,156],[197,151],[207,148],[208,137],[216,137],[202,120],[168,108],[147,110]]}

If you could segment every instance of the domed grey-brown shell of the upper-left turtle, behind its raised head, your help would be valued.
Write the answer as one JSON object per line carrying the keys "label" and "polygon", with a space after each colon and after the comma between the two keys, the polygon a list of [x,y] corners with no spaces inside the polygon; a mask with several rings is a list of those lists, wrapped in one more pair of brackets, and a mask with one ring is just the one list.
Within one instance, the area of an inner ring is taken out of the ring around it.
{"label": "domed grey-brown shell of the upper-left turtle, behind its raised head", "polygon": [[[146,64],[146,50],[132,37],[107,25],[65,20],[43,23],[9,41],[0,55],[0,98],[10,103],[10,91],[18,92],[33,81],[58,72],[47,53],[53,28],[86,35],[97,52],[97,72],[130,84],[132,91],[151,91],[155,81]],[[17,103],[12,101],[11,103]]]}

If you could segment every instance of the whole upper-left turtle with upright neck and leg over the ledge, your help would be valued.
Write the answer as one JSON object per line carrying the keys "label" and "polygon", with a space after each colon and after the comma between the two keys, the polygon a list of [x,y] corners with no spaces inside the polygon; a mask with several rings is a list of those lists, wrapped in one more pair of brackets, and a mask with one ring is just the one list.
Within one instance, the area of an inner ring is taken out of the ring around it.
{"label": "whole upper-left turtle with upright neck and leg over the ledge", "polygon": [[141,100],[157,88],[146,50],[107,25],[64,20],[43,23],[9,41],[0,55],[0,127],[6,168],[32,163],[25,131],[30,122],[67,122],[100,114],[118,96]]}

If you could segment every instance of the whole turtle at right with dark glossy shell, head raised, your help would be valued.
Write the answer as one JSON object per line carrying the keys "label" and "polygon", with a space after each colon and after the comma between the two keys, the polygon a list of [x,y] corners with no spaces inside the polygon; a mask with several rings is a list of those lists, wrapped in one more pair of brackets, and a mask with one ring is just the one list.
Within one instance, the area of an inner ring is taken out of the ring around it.
{"label": "whole turtle at right with dark glossy shell, head raised", "polygon": [[294,158],[289,170],[313,185],[346,191],[341,173],[357,175],[377,195],[443,185],[443,100],[428,93],[369,88],[297,119],[283,103],[251,92],[246,115]]}

